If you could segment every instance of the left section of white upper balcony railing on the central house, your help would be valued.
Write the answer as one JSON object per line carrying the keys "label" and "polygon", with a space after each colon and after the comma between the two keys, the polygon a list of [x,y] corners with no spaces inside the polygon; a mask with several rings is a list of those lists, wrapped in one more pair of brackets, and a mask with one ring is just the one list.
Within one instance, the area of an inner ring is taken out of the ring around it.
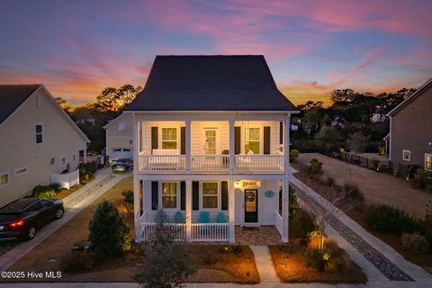
{"label": "left section of white upper balcony railing on the central house", "polygon": [[184,171],[184,155],[139,155],[140,171]]}

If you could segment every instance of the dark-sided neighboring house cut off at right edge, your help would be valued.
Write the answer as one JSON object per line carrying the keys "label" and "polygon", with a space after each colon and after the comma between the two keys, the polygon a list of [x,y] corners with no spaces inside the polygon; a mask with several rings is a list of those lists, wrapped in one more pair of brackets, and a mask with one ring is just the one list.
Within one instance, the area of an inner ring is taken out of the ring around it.
{"label": "dark-sided neighboring house cut off at right edge", "polygon": [[389,157],[401,175],[410,166],[432,171],[432,79],[387,114]]}

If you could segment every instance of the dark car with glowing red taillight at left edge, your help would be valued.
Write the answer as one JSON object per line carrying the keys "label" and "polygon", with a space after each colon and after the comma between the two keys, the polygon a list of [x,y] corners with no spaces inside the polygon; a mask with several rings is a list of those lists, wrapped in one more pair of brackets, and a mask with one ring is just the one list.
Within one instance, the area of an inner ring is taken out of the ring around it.
{"label": "dark car with glowing red taillight at left edge", "polygon": [[59,199],[18,199],[0,209],[0,238],[34,238],[38,229],[64,213]]}

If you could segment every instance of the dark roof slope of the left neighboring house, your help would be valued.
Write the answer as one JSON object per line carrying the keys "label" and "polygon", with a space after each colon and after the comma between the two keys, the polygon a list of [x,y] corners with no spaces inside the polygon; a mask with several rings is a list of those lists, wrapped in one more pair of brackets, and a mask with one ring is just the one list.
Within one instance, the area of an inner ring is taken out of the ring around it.
{"label": "dark roof slope of the left neighboring house", "polygon": [[0,124],[39,87],[40,84],[0,85]]}

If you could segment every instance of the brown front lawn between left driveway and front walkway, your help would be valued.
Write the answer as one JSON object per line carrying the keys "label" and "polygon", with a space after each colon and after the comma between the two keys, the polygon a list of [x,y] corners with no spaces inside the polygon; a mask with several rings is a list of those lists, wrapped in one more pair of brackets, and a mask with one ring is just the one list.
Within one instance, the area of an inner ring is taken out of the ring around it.
{"label": "brown front lawn between left driveway and front walkway", "polygon": [[[139,266],[139,247],[135,246],[122,257],[98,258],[91,269],[78,269],[66,272],[65,260],[71,257],[72,247],[81,246],[88,238],[88,222],[93,217],[94,210],[103,200],[112,201],[126,218],[133,235],[133,217],[127,211],[124,190],[132,190],[132,179],[126,178],[115,184],[85,210],[78,213],[72,220],[60,227],[54,234],[46,238],[39,246],[33,248],[23,258],[18,260],[8,271],[61,271],[59,279],[21,279],[22,282],[134,282]],[[197,272],[190,282],[225,282],[254,284],[259,283],[259,275],[253,253],[249,247],[241,247],[238,255],[228,251],[222,245],[188,245],[192,257],[192,264]],[[13,280],[0,279],[0,282]]]}

